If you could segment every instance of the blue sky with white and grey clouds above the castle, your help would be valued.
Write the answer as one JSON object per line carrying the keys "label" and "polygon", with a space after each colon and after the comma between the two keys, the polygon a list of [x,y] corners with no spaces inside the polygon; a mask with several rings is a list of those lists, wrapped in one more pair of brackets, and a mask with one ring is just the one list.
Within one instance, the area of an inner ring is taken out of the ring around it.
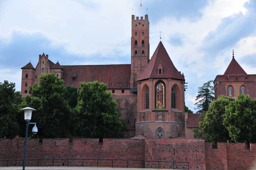
{"label": "blue sky with white and grey clouds above the castle", "polygon": [[146,12],[150,57],[161,31],[194,112],[198,87],[225,72],[233,49],[256,74],[256,0],[0,0],[0,82],[20,91],[20,68],[42,53],[61,65],[130,64],[131,15]]}

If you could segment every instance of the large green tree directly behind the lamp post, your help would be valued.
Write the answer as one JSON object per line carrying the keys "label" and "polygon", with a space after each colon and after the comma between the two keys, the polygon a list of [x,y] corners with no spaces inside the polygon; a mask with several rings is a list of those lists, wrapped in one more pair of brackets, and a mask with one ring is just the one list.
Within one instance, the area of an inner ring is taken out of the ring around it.
{"label": "large green tree directly behind the lamp post", "polygon": [[[63,83],[53,73],[42,74],[39,84],[29,87],[30,96],[26,96],[20,106],[37,109],[32,114],[31,122],[37,123],[39,138],[63,138],[69,135],[71,108],[63,97],[66,91]],[[23,126],[23,122],[20,126]],[[22,129],[21,136],[24,133]]]}

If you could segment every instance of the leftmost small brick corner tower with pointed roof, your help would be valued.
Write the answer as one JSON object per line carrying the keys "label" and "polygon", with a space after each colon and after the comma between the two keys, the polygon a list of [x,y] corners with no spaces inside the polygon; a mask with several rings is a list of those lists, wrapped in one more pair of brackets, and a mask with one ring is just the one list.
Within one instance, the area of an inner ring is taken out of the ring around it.
{"label": "leftmost small brick corner tower with pointed roof", "polygon": [[29,94],[29,86],[32,86],[35,82],[35,68],[30,63],[27,63],[22,69],[22,79],[21,79],[21,94],[25,97]]}

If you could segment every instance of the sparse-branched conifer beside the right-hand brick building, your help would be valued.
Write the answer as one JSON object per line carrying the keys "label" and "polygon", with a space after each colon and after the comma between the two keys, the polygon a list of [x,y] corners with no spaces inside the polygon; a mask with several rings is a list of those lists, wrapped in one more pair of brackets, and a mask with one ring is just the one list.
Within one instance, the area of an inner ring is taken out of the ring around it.
{"label": "sparse-branched conifer beside the right-hand brick building", "polygon": [[211,102],[214,100],[214,88],[211,86],[213,81],[208,81],[198,88],[196,96],[197,105],[195,109],[199,109],[196,113],[206,113]]}

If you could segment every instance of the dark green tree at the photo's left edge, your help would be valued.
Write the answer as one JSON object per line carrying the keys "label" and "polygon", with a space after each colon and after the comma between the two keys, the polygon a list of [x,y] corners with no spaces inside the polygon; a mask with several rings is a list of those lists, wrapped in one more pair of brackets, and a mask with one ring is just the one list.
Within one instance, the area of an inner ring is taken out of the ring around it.
{"label": "dark green tree at the photo's left edge", "polygon": [[15,92],[15,83],[0,82],[0,138],[12,139],[19,133],[16,115],[22,101],[19,91]]}

